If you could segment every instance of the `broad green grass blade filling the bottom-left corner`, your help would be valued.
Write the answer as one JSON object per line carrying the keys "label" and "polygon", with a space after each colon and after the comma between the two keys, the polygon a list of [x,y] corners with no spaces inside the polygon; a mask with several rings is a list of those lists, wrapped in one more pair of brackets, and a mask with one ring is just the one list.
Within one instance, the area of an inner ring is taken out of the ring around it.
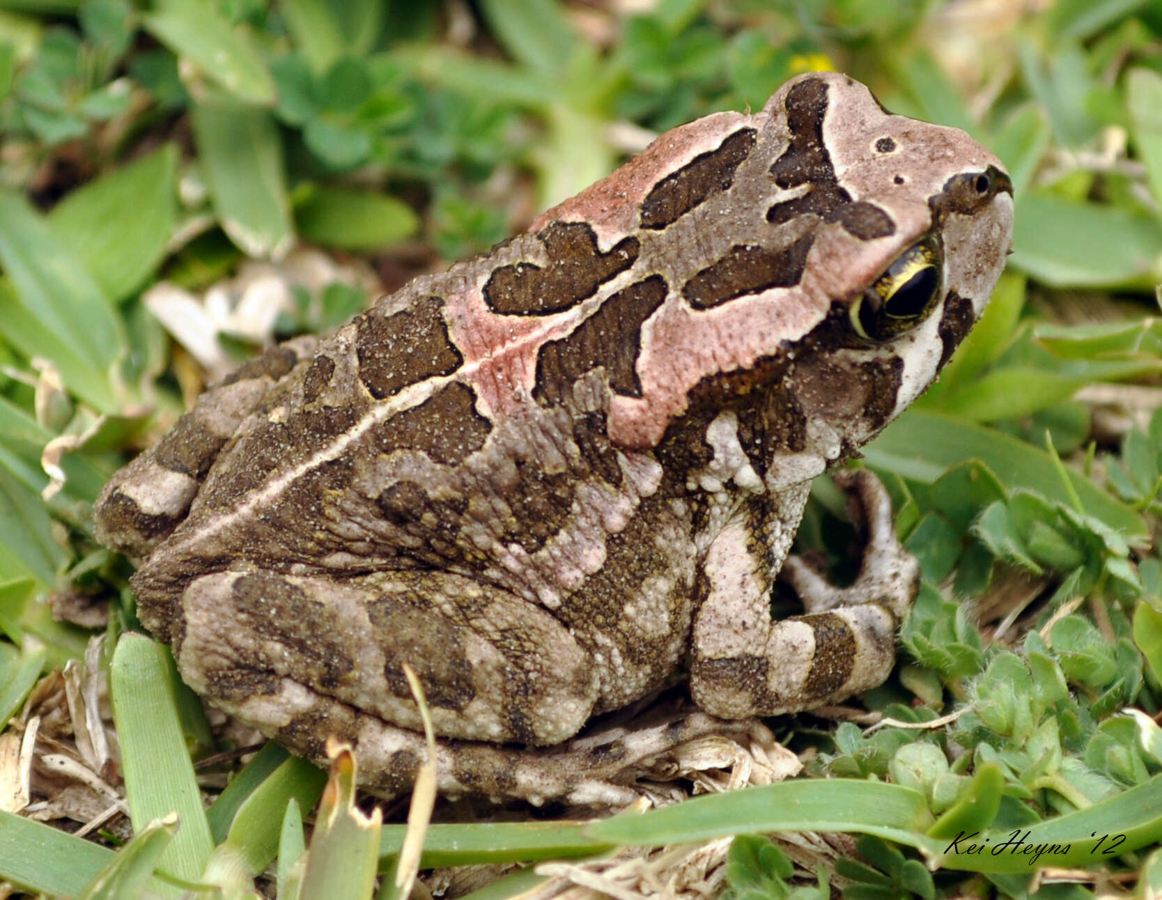
{"label": "broad green grass blade filling the bottom-left corner", "polygon": [[76,897],[110,859],[112,850],[0,811],[0,878],[31,893]]}

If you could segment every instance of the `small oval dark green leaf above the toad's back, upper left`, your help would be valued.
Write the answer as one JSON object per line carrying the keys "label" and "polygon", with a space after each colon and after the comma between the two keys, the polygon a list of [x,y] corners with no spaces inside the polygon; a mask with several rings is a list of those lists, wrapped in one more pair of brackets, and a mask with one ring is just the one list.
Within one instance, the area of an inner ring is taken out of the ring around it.
{"label": "small oval dark green leaf above the toad's back, upper left", "polygon": [[350,188],[320,187],[295,210],[303,238],[340,250],[383,250],[416,233],[419,217],[401,200]]}

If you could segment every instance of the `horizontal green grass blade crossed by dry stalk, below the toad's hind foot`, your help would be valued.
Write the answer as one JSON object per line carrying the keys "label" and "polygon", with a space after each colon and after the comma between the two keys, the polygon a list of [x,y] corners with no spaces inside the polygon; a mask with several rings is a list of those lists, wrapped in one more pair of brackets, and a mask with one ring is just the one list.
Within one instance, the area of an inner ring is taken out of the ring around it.
{"label": "horizontal green grass blade crossed by dry stalk, below the toad's hind foot", "polygon": [[[421,869],[443,865],[535,862],[571,856],[591,856],[612,844],[584,833],[588,822],[489,822],[431,825],[424,841]],[[383,826],[379,843],[382,858],[399,855],[407,826]]]}

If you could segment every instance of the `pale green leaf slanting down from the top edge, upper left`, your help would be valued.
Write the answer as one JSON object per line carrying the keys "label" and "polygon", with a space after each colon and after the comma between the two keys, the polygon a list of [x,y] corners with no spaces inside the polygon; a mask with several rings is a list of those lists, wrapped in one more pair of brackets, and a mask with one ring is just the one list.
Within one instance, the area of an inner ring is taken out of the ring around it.
{"label": "pale green leaf slanting down from the top edge, upper left", "polygon": [[208,0],[164,0],[142,23],[163,44],[245,103],[273,106],[274,80],[243,34]]}

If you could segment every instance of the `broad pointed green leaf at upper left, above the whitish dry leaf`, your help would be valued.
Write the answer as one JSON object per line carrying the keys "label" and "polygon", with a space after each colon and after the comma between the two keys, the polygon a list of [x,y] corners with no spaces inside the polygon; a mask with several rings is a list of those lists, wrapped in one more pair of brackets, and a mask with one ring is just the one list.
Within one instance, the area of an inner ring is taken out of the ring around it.
{"label": "broad pointed green leaf at upper left, above the whitish dry leaf", "polygon": [[[49,226],[96,279],[122,300],[141,288],[165,257],[177,213],[177,147],[149,156],[78,188],[49,214]],[[116,228],[107,224],[116,222]]]}

